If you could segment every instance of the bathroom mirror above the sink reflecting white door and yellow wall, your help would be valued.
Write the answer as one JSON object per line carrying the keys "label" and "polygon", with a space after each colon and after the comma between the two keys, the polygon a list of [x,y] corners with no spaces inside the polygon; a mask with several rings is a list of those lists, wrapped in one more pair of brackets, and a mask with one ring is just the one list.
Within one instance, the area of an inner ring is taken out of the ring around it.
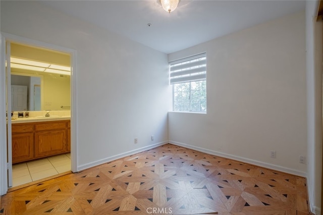
{"label": "bathroom mirror above the sink reflecting white door and yellow wall", "polygon": [[12,72],[12,111],[71,110],[70,76],[51,73],[33,75]]}

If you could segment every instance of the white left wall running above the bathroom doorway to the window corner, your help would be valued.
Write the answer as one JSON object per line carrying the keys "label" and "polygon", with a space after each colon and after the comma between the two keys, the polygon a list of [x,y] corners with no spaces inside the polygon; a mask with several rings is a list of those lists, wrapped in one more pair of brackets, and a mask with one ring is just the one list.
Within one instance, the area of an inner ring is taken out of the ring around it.
{"label": "white left wall running above the bathroom doorway to the window corner", "polygon": [[165,53],[37,2],[1,1],[1,31],[76,50],[79,170],[167,142]]}

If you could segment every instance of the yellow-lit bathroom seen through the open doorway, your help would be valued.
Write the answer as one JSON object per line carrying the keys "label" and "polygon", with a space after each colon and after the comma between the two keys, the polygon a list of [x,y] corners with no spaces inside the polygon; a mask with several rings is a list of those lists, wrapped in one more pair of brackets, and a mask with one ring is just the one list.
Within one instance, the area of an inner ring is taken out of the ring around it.
{"label": "yellow-lit bathroom seen through the open doorway", "polygon": [[71,60],[65,52],[11,42],[10,61],[8,140],[18,187],[71,171]]}

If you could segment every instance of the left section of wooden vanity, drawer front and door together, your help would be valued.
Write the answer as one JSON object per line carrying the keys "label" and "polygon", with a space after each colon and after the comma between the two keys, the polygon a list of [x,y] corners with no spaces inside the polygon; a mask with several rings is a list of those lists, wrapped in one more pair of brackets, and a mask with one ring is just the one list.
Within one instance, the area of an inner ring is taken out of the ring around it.
{"label": "left section of wooden vanity, drawer front and door together", "polygon": [[34,126],[26,123],[12,125],[12,163],[34,158]]}

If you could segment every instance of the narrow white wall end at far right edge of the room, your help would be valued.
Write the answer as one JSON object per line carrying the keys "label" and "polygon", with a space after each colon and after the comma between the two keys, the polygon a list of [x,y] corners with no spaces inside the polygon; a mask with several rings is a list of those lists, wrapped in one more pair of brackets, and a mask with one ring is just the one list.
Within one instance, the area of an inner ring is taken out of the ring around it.
{"label": "narrow white wall end at far right edge of the room", "polygon": [[311,211],[321,214],[322,171],[322,20],[318,1],[306,1],[307,184]]}

